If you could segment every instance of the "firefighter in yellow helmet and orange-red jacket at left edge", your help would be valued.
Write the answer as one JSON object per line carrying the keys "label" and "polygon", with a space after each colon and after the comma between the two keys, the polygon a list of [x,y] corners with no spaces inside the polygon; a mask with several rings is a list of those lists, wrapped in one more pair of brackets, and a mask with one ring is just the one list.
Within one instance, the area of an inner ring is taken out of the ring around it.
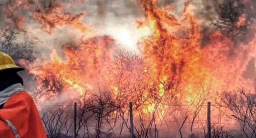
{"label": "firefighter in yellow helmet and orange-red jacket at left edge", "polygon": [[17,74],[22,70],[0,52],[0,138],[47,138],[37,107]]}

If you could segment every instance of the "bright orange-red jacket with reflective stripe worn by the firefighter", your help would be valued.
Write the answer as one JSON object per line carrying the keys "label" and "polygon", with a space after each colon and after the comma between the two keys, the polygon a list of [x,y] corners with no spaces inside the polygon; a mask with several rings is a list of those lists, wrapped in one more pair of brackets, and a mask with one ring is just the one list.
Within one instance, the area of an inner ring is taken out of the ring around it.
{"label": "bright orange-red jacket with reflective stripe worn by the firefighter", "polygon": [[[16,136],[15,129],[18,133]],[[0,138],[19,136],[47,138],[37,107],[32,97],[24,91],[13,94],[0,109]]]}

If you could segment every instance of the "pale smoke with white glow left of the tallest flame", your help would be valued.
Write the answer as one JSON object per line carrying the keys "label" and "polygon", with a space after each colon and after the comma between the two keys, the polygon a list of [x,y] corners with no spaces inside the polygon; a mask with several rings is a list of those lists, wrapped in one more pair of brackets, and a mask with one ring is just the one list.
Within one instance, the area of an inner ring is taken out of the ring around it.
{"label": "pale smoke with white glow left of the tallest flame", "polygon": [[35,49],[49,57],[51,50],[60,54],[62,45],[78,45],[85,33],[91,30],[97,35],[109,35],[116,40],[118,49],[137,51],[134,21],[143,16],[140,5],[127,0],[86,1],[13,1],[1,2],[0,26],[20,31],[17,39],[24,35],[38,42]]}

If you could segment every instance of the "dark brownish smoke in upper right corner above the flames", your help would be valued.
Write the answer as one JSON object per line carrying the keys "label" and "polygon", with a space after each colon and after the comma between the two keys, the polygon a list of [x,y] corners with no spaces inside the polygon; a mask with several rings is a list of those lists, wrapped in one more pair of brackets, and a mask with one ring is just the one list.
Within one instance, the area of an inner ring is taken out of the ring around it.
{"label": "dark brownish smoke in upper right corner above the flames", "polygon": [[[255,2],[250,0],[207,1],[204,6],[206,12],[197,13],[199,16],[206,17],[204,24],[208,22],[207,26],[203,26],[204,44],[207,44],[207,39],[212,31],[220,30],[225,32],[234,42],[234,48],[230,49],[230,54],[227,56],[236,56],[234,51],[240,49],[243,45],[249,45],[255,38],[255,8]],[[250,55],[245,52],[244,57],[247,56]],[[243,77],[255,81],[254,73],[255,63],[254,57],[252,57],[247,64]]]}

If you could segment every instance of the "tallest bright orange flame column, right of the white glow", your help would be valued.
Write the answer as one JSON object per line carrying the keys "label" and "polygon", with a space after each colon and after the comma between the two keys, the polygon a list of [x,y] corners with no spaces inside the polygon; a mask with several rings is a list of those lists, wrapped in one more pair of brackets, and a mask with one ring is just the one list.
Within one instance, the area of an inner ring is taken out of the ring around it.
{"label": "tallest bright orange flame column, right of the white glow", "polygon": [[[142,5],[147,18],[138,29],[142,33],[147,28],[151,31],[146,38],[142,36],[140,41],[143,57],[149,64],[153,63],[151,67],[159,82],[176,80],[184,88],[187,97],[190,97],[189,93],[198,91],[202,77],[210,75],[200,49],[201,29],[198,21],[189,14],[188,3],[181,23],[167,11],[156,7],[153,1],[142,1]],[[186,35],[181,36],[181,33]]]}

